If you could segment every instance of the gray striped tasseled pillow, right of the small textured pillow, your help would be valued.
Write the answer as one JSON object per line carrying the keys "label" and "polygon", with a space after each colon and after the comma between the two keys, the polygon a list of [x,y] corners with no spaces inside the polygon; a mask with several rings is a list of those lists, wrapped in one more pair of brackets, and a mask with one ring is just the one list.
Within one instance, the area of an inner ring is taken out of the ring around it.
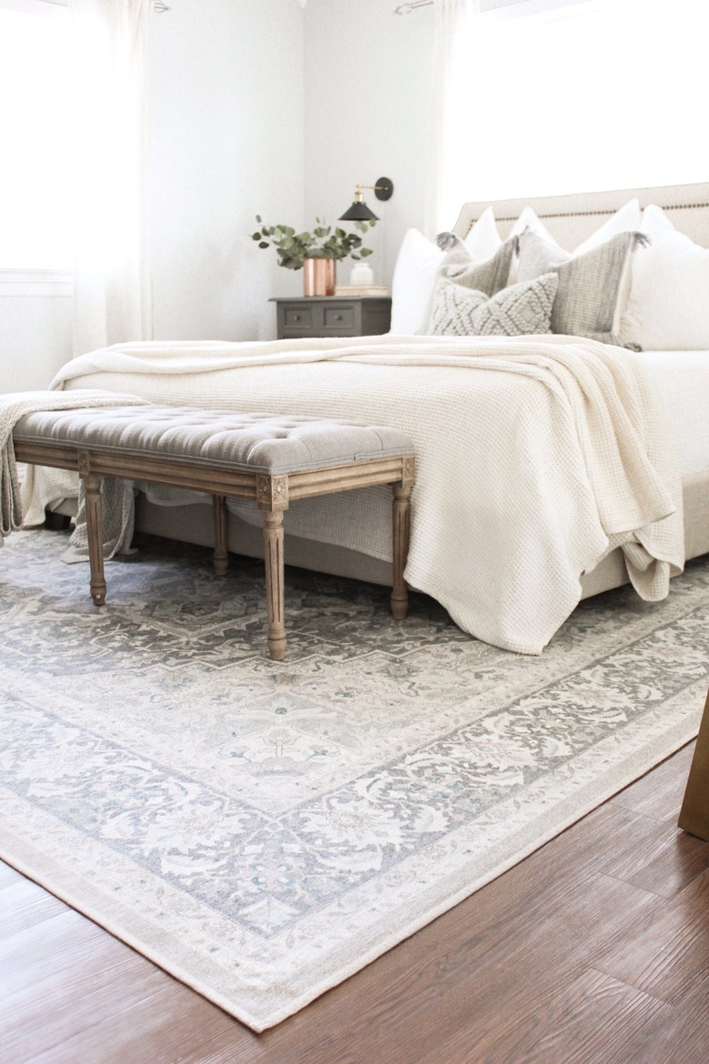
{"label": "gray striped tasseled pillow, right of the small textured pillow", "polygon": [[519,237],[518,280],[555,270],[559,290],[552,307],[552,332],[619,344],[629,257],[639,238],[638,233],[619,233],[574,257],[526,229]]}

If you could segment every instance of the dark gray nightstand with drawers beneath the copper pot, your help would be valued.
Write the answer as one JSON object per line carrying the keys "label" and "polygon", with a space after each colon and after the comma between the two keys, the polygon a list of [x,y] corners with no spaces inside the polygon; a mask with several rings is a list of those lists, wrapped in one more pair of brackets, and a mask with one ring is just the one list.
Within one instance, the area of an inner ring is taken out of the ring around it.
{"label": "dark gray nightstand with drawers beneath the copper pot", "polygon": [[389,331],[388,296],[296,296],[276,304],[278,339],[297,336],[376,336]]}

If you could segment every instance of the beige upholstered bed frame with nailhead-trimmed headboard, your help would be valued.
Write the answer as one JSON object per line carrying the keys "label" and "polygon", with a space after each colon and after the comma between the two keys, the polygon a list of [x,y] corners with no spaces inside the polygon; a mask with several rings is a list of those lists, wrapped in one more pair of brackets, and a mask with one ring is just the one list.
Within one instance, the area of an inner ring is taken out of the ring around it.
{"label": "beige upholstered bed frame with nailhead-trimmed headboard", "polygon": [[[545,196],[536,199],[466,203],[455,232],[465,236],[483,211],[494,207],[501,235],[509,233],[520,212],[530,206],[562,247],[574,248],[590,236],[604,220],[634,197],[640,205],[657,203],[671,212],[674,226],[704,247],[709,247],[709,183],[656,188],[625,188],[604,193]],[[685,541],[687,558],[709,552],[709,468],[682,481],[685,499]],[[153,505],[141,496],[136,513],[137,528],[167,538],[185,539],[208,546],[213,542],[212,513],[208,506],[166,508]],[[229,546],[235,553],[263,556],[259,529],[230,515]],[[343,547],[289,536],[287,561],[290,565],[354,577],[373,583],[391,583],[391,565]],[[620,550],[613,551],[595,569],[581,578],[583,597],[587,598],[628,582]]]}

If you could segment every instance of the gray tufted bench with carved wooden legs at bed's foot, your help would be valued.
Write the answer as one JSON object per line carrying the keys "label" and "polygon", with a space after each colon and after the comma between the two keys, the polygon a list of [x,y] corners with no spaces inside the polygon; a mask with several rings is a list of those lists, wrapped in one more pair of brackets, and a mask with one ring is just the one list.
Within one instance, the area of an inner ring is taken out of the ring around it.
{"label": "gray tufted bench with carved wooden legs at bed's foot", "polygon": [[104,477],[208,492],[214,498],[215,570],[226,571],[227,497],[253,499],[264,515],[268,652],[281,661],[284,625],[283,513],[291,501],[373,484],[393,489],[391,609],[406,616],[413,446],[404,433],[355,421],[227,414],[184,406],[103,406],[27,414],[13,431],[18,462],[79,472],[97,605],[105,601],[101,482]]}

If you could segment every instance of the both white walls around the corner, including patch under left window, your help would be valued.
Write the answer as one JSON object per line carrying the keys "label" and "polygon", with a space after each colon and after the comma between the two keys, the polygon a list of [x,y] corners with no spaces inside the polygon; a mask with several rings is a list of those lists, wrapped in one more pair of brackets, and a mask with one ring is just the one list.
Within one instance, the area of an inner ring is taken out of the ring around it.
{"label": "both white walls around the corner, including patch under left window", "polygon": [[[336,220],[357,182],[382,223],[368,234],[390,283],[404,231],[423,226],[433,9],[395,0],[171,0],[153,15],[148,204],[161,339],[266,339],[271,296],[297,295],[248,234]],[[350,264],[340,267],[347,281]],[[0,286],[1,290],[1,286]],[[45,387],[71,354],[71,299],[0,294],[0,390]]]}

